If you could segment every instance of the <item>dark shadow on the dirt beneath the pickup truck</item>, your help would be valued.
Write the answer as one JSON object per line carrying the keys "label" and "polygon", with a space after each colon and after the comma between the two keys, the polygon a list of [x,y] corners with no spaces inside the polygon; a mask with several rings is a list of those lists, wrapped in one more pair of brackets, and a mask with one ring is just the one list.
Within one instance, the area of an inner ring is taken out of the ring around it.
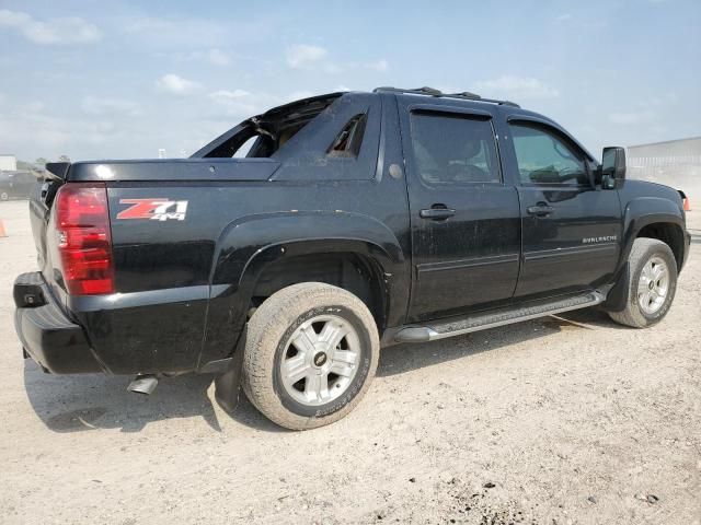
{"label": "dark shadow on the dirt beneath the pickup truck", "polygon": [[[507,329],[494,328],[422,345],[398,345],[382,350],[377,375],[401,374],[562,330],[611,326],[617,325],[605,313],[588,308],[515,324]],[[150,422],[192,417],[202,417],[217,432],[221,432],[220,417],[231,417],[241,424],[264,432],[286,432],[262,416],[243,393],[232,415],[225,416],[226,412],[215,410],[214,395],[209,390],[211,375],[193,374],[162,380],[151,396],[126,392],[129,381],[127,376],[102,374],[54,376],[42,372],[31,360],[26,360],[24,365],[24,384],[32,408],[54,432],[99,429],[140,432]]]}

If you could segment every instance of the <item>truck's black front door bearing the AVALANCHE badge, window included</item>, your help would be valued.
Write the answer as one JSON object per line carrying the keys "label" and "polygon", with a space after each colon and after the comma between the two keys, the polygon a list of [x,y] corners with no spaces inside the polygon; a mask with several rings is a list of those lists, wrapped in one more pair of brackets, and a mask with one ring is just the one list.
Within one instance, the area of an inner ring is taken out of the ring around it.
{"label": "truck's black front door bearing the AVALANCHE badge, window included", "polygon": [[616,190],[593,185],[593,161],[545,122],[509,120],[521,203],[517,298],[587,290],[610,281],[621,245]]}

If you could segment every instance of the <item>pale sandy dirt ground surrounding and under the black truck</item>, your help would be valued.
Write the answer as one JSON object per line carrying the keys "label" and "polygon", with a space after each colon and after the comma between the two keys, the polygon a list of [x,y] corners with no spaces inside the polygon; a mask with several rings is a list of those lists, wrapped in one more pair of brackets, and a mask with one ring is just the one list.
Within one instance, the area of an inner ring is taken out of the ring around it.
{"label": "pale sandy dirt ground surrounding and under the black truck", "polygon": [[0,203],[0,523],[701,523],[701,214],[667,318],[596,311],[383,350],[343,421],[284,431],[211,377],[51,376],[22,359],[26,202]]}

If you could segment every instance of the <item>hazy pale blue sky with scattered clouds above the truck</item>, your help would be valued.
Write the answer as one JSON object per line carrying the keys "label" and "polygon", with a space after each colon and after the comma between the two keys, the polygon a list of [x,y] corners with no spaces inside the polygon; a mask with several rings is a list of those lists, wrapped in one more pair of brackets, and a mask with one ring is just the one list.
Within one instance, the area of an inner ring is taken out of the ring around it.
{"label": "hazy pale blue sky with scattered clouds above the truck", "polygon": [[502,97],[604,145],[701,136],[700,0],[0,0],[0,153],[187,156],[304,96]]}

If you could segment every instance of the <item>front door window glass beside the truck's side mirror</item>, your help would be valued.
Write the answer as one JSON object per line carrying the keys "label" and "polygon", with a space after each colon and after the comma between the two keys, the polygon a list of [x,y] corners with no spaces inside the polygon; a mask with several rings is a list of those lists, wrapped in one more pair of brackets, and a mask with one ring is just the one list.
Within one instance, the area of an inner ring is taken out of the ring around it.
{"label": "front door window glass beside the truck's side mirror", "polygon": [[589,185],[582,154],[564,140],[538,126],[510,128],[521,184]]}

